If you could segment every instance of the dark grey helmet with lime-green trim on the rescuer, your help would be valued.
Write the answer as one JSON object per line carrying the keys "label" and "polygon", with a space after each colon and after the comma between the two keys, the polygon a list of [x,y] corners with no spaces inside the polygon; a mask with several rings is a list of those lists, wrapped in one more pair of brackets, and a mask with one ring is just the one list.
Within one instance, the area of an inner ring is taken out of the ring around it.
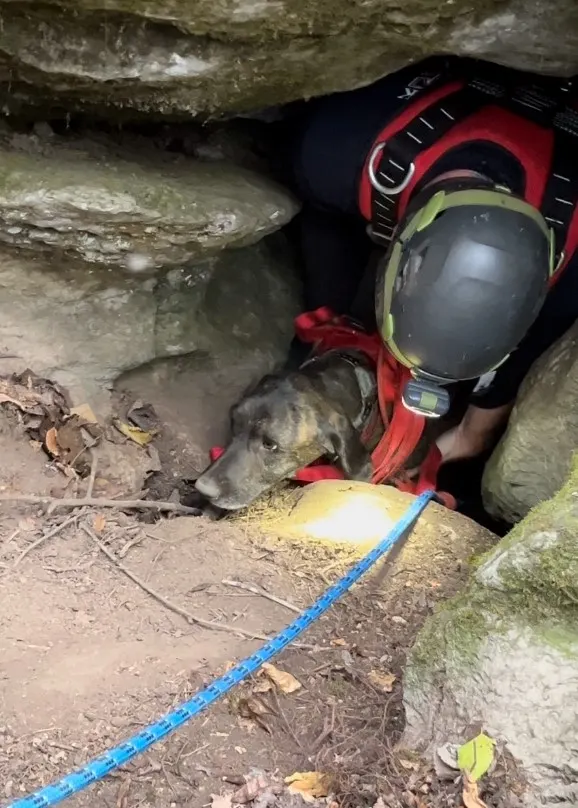
{"label": "dark grey helmet with lime-green trim on the rescuer", "polygon": [[422,199],[378,271],[378,327],[416,379],[474,379],[500,365],[536,319],[553,235],[506,189],[458,187]]}

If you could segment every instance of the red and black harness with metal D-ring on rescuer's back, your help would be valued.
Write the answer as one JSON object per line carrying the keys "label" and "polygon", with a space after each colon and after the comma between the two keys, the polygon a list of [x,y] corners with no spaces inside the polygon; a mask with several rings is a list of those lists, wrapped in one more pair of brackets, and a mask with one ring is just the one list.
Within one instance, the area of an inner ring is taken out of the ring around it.
{"label": "red and black harness with metal D-ring on rescuer's back", "polygon": [[[500,83],[500,76],[506,81]],[[521,85],[520,79],[515,84],[509,76],[496,72],[492,80],[469,81],[440,76],[417,95],[374,142],[362,172],[359,207],[387,245],[416,185],[440,158],[467,144],[500,146],[524,169],[524,199],[554,231],[554,282],[578,248],[578,111],[568,83],[546,91],[538,84]]]}

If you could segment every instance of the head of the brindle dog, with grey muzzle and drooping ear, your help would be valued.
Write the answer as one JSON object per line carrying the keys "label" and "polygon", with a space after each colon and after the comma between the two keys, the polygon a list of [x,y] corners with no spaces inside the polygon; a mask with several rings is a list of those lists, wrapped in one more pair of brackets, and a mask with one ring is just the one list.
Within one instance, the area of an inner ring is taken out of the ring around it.
{"label": "head of the brindle dog, with grey muzzle and drooping ear", "polygon": [[197,490],[225,510],[262,493],[323,455],[347,479],[371,478],[371,458],[351,420],[308,377],[265,376],[231,410],[231,437],[197,480]]}

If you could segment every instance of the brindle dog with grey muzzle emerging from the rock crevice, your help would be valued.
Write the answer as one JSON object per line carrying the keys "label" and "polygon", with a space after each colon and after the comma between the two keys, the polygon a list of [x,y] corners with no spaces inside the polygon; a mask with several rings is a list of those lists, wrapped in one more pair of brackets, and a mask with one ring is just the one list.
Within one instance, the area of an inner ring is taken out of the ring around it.
{"label": "brindle dog with grey muzzle emerging from the rock crevice", "polygon": [[[377,407],[375,367],[361,352],[330,350],[298,370],[269,374],[232,407],[230,440],[196,490],[211,506],[236,511],[323,456],[346,479],[368,482],[381,432],[369,442],[362,434]],[[406,467],[418,466],[428,449],[422,438]]]}

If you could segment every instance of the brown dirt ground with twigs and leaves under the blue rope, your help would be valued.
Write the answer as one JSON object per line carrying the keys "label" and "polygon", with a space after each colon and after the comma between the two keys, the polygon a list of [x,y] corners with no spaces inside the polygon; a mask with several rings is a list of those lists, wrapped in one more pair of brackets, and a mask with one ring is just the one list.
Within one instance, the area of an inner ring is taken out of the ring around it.
{"label": "brown dirt ground with twigs and leaves under the blue rope", "polygon": [[[10,420],[0,419],[0,452],[0,497],[62,495],[66,478]],[[227,795],[256,772],[278,784],[296,771],[319,771],[330,776],[334,808],[461,805],[457,785],[438,783],[429,762],[396,743],[416,632],[463,584],[471,556],[494,540],[467,524],[430,506],[394,564],[366,576],[301,639],[304,647],[274,660],[298,690],[284,694],[254,678],[68,804],[228,808]],[[353,552],[282,542],[242,520],[169,516],[151,524],[118,509],[47,513],[4,499],[0,803],[159,718],[258,648],[248,635],[268,635],[295,616],[224,581],[301,609]],[[195,625],[185,613],[216,626]],[[218,630],[224,624],[229,629]],[[511,782],[501,762],[485,786],[487,805],[516,805]],[[259,805],[305,805],[283,793]]]}

